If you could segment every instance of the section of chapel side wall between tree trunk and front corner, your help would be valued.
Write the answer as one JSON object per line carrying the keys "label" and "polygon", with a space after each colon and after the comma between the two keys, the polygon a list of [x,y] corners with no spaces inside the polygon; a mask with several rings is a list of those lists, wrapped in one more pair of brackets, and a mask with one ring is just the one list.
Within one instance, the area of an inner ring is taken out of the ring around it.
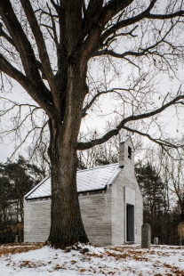
{"label": "section of chapel side wall between tree trunk and front corner", "polygon": [[79,204],[84,229],[93,245],[111,244],[111,189],[106,193],[80,196]]}

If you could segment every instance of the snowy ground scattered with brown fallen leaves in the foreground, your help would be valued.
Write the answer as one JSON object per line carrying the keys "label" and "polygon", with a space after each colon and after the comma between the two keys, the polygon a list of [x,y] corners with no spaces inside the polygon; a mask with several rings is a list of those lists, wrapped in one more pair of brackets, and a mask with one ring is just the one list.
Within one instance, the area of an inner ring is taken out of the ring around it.
{"label": "snowy ground scattered with brown fallen leaves in the foreground", "polygon": [[0,276],[184,276],[184,247],[140,245],[66,250],[36,245],[0,246]]}

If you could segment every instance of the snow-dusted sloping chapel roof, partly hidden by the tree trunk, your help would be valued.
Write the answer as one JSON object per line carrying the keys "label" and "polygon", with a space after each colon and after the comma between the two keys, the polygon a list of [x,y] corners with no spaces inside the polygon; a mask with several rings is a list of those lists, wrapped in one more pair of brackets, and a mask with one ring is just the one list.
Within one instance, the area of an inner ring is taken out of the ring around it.
{"label": "snow-dusted sloping chapel roof, partly hidden by the tree trunk", "polygon": [[[120,173],[122,168],[119,164],[110,164],[107,166],[98,166],[92,169],[86,169],[76,172],[76,186],[77,191],[95,191],[102,190],[107,185],[114,182],[116,176]],[[25,199],[37,199],[50,197],[51,191],[51,177],[46,177],[37,184],[35,188],[25,195]]]}

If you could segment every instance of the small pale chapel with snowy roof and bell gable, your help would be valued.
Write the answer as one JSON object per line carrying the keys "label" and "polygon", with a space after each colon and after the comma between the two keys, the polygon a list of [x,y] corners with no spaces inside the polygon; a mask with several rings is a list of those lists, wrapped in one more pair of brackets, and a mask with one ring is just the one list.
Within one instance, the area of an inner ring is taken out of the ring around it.
{"label": "small pale chapel with snowy roof and bell gable", "polygon": [[[131,156],[130,156],[131,154]],[[119,164],[77,172],[77,191],[89,240],[95,245],[120,245],[127,241],[125,187],[134,194],[133,240],[140,243],[142,197],[134,174],[132,139],[120,143]],[[127,189],[126,189],[127,191]],[[130,199],[127,199],[130,200]],[[45,241],[51,226],[51,180],[44,179],[24,200],[24,241]],[[132,219],[132,217],[131,217]],[[132,225],[132,224],[131,224]]]}

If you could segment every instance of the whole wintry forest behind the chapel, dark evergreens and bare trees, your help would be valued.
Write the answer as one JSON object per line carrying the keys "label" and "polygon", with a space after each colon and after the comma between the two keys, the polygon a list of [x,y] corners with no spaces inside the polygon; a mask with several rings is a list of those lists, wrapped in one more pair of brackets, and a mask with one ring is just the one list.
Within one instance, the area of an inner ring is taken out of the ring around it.
{"label": "whole wintry forest behind the chapel, dark evergreens and bare trees", "polygon": [[[78,151],[78,169],[118,162],[119,139]],[[135,174],[143,197],[143,220],[151,226],[152,242],[157,237],[159,244],[179,245],[177,226],[184,221],[184,164],[180,158],[183,153],[178,152],[173,158],[156,146],[143,146],[142,139],[135,135],[132,139],[137,157]],[[50,171],[47,160],[37,163],[41,156],[39,149],[34,159],[36,165],[22,156],[15,162],[0,164],[0,243],[13,242],[16,235],[19,241],[23,240],[23,197]]]}

